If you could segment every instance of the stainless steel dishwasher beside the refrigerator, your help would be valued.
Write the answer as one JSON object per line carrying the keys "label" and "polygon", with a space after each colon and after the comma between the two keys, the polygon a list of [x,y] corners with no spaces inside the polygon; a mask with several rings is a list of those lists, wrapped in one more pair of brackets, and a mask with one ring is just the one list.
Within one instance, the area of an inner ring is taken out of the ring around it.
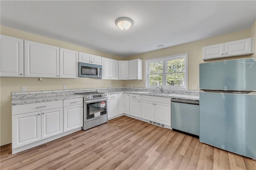
{"label": "stainless steel dishwasher beside the refrigerator", "polygon": [[199,101],[171,100],[171,126],[173,130],[199,136]]}

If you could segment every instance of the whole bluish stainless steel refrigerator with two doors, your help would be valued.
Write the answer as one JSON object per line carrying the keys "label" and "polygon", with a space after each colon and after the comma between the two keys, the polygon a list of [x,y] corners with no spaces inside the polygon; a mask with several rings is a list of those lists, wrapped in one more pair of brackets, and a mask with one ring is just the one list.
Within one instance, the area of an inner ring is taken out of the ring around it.
{"label": "whole bluish stainless steel refrigerator with two doors", "polygon": [[256,159],[256,58],[199,68],[199,140]]}

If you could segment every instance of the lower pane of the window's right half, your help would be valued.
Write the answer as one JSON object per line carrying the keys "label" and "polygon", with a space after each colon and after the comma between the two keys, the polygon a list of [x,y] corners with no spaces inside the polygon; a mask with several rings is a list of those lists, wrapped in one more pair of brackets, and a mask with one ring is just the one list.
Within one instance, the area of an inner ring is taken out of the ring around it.
{"label": "lower pane of the window's right half", "polygon": [[167,86],[179,86],[184,87],[184,73],[172,73],[166,74]]}

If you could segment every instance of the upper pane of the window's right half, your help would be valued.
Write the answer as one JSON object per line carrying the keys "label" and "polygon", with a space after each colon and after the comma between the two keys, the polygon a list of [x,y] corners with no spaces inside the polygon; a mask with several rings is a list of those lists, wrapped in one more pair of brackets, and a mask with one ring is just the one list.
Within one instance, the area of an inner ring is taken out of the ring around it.
{"label": "upper pane of the window's right half", "polygon": [[184,58],[167,61],[167,72],[184,72]]}

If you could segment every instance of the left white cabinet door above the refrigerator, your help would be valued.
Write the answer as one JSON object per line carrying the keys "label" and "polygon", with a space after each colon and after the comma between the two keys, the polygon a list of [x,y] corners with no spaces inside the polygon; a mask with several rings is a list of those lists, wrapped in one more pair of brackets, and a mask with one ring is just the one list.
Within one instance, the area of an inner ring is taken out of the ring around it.
{"label": "left white cabinet door above the refrigerator", "polygon": [[224,43],[203,47],[203,60],[224,57]]}

